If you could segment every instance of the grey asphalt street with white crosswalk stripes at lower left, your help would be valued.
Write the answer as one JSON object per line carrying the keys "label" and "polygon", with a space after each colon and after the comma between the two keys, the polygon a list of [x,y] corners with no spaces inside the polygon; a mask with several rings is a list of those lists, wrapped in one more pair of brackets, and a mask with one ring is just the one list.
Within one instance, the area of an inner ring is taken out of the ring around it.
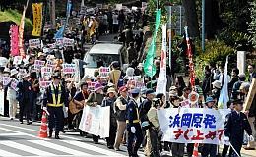
{"label": "grey asphalt street with white crosswalk stripes at lower left", "polygon": [[[92,138],[80,136],[79,132],[60,134],[60,140],[39,138],[40,123],[32,125],[20,124],[18,120],[10,121],[0,118],[0,156],[1,157],[122,157],[127,156],[126,147],[123,151],[114,151],[106,147],[104,139],[94,144]],[[142,155],[142,152],[141,152]]]}

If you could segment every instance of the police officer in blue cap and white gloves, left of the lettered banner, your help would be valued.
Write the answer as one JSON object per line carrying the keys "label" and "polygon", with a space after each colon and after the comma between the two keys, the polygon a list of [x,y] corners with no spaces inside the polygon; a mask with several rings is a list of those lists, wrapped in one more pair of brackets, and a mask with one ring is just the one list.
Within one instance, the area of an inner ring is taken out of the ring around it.
{"label": "police officer in blue cap and white gloves, left of the lettered banner", "polygon": [[[132,98],[126,108],[126,128],[128,131],[128,153],[130,157],[138,157],[137,151],[143,140],[142,129],[138,114],[138,105],[136,103],[139,98],[139,89],[132,89]],[[136,143],[134,144],[134,141]]]}

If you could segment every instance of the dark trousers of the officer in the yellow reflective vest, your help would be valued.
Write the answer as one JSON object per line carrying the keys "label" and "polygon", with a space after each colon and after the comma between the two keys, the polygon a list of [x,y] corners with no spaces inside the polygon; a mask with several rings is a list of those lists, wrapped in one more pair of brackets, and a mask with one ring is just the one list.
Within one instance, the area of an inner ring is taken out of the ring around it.
{"label": "dark trousers of the officer in the yellow reflective vest", "polygon": [[47,107],[49,112],[49,130],[55,127],[55,133],[58,134],[62,130],[64,123],[63,107]]}

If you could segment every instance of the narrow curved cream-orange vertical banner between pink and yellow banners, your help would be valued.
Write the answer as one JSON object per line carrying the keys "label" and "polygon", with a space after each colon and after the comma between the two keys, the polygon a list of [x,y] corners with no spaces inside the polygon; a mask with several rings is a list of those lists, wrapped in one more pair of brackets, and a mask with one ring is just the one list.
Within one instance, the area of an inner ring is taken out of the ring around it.
{"label": "narrow curved cream-orange vertical banner between pink and yellow banners", "polygon": [[21,24],[19,26],[19,43],[18,43],[18,46],[19,46],[20,56],[22,56],[23,58],[26,57],[24,47],[23,47],[24,46],[23,45],[23,34],[24,34],[24,25],[25,25],[25,13],[26,13],[26,10],[28,8],[28,4],[29,4],[29,0],[27,0],[27,4],[26,4],[26,6],[24,6],[23,15],[22,15],[22,18],[21,18]]}

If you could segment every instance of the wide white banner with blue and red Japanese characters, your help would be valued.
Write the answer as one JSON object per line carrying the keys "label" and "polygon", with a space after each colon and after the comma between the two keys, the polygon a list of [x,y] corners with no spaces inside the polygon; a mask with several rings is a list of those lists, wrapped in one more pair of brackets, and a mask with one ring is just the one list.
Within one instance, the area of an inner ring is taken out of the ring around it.
{"label": "wide white banner with blue and red Japanese characters", "polygon": [[170,108],[158,110],[163,141],[221,144],[227,109]]}

